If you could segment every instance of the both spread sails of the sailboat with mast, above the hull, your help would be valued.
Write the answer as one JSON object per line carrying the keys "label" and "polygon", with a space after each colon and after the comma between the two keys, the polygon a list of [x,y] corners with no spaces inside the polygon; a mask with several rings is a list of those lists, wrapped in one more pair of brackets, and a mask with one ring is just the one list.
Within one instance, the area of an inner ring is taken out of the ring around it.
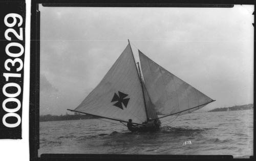
{"label": "both spread sails of the sailboat with mast, above the hull", "polygon": [[[191,113],[214,102],[138,50],[130,41],[108,73],[73,112],[144,125],[149,119]],[[159,117],[161,116],[161,117]]]}

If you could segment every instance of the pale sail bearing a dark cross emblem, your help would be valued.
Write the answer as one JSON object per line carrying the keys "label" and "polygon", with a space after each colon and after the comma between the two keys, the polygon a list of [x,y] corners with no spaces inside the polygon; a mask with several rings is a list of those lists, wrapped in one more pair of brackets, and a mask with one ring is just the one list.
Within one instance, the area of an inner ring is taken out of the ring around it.
{"label": "pale sail bearing a dark cross emblem", "polygon": [[126,122],[132,119],[137,124],[146,121],[142,88],[130,44],[74,110]]}

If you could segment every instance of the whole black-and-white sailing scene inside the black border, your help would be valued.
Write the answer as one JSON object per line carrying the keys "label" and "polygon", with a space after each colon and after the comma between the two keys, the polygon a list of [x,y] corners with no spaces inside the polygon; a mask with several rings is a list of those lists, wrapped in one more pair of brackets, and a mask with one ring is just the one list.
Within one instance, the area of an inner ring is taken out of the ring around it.
{"label": "whole black-and-white sailing scene inside the black border", "polygon": [[253,11],[39,4],[38,157],[252,156]]}

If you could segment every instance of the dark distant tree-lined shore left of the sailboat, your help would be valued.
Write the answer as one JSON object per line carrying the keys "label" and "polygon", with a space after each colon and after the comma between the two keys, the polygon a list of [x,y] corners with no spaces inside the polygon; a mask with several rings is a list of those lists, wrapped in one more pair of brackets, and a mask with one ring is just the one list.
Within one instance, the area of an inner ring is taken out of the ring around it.
{"label": "dark distant tree-lined shore left of the sailboat", "polygon": [[62,121],[62,120],[84,120],[84,119],[97,119],[99,117],[91,116],[89,114],[80,114],[76,113],[75,114],[68,114],[66,115],[60,115],[60,116],[55,116],[51,114],[47,115],[41,115],[39,116],[39,122],[44,122],[44,121]]}

